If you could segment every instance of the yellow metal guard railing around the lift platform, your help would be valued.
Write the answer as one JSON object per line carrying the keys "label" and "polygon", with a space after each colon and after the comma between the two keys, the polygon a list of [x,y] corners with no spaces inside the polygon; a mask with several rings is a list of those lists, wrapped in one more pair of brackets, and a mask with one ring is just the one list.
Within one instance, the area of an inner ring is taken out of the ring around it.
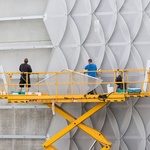
{"label": "yellow metal guard railing around the lift platform", "polygon": [[[26,81],[28,81],[28,73]],[[83,71],[63,71],[63,72],[33,72],[30,75],[31,88],[28,91],[28,82],[24,85],[24,92],[41,92],[50,95],[76,95],[87,94],[89,90],[102,86],[104,91],[97,88],[97,93],[109,93],[108,85],[117,92],[118,84],[122,85],[120,91],[126,92],[129,87],[141,88],[144,91],[144,85],[147,91],[150,91],[150,74],[148,70],[100,70],[97,71],[98,78],[90,78],[87,72]],[[122,76],[121,82],[116,82],[116,76]],[[145,79],[147,74],[147,79]],[[0,94],[12,94],[13,91],[19,91],[20,72],[0,73]],[[5,80],[4,80],[5,78]],[[90,80],[89,80],[90,79]],[[5,82],[4,82],[5,81]],[[90,89],[91,88],[91,89]]]}

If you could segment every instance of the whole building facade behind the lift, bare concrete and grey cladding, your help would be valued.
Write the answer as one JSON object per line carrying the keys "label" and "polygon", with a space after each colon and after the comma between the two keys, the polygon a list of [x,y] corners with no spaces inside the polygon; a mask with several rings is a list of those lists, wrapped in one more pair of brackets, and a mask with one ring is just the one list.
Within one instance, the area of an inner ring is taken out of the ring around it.
{"label": "whole building facade behind the lift, bare concrete and grey cladding", "polygon": [[[0,1],[0,65],[6,72],[18,71],[25,57],[35,72],[82,70],[89,58],[104,70],[145,68],[149,47],[150,0]],[[93,105],[61,104],[76,117]],[[149,114],[150,98],[131,98],[85,123],[112,141],[111,150],[149,150]],[[44,105],[0,105],[0,120],[2,150],[42,150],[45,138],[68,124]],[[88,150],[94,142],[75,128],[54,145]]]}

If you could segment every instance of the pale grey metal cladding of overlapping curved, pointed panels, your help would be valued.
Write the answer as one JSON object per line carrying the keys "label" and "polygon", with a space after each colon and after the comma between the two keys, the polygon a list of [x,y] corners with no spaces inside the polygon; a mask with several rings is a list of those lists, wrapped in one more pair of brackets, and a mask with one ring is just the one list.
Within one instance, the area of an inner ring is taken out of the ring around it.
{"label": "pale grey metal cladding of overlapping curved, pointed panels", "polygon": [[[82,70],[88,58],[101,69],[146,67],[150,58],[149,3],[149,0],[50,0],[44,22],[56,47],[53,52],[63,55],[63,62],[56,64],[55,60],[50,60],[48,71],[55,70],[52,66],[62,69],[66,63],[69,69]],[[110,79],[104,77],[105,81]],[[75,114],[91,107],[92,104],[86,103],[76,110],[74,105],[66,109],[73,109]],[[112,141],[112,150],[149,150],[149,110],[149,98],[131,98],[125,103],[110,104],[86,123]],[[50,129],[53,126],[51,124]],[[94,143],[78,129],[68,136],[62,139],[70,141],[68,150],[87,150]],[[62,149],[62,141],[56,142],[56,147]],[[100,147],[96,143],[93,150]]]}

